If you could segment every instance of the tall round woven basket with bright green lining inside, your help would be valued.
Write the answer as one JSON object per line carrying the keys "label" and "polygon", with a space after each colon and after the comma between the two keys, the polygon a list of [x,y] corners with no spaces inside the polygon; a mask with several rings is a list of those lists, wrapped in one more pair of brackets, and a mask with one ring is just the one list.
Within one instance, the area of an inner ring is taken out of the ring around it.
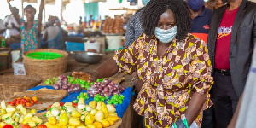
{"label": "tall round woven basket with bright green lining inside", "polygon": [[[61,58],[53,60],[37,60],[26,57],[27,54],[33,52],[54,52],[63,55]],[[35,49],[23,53],[23,63],[27,75],[38,75],[45,79],[57,77],[67,70],[67,52],[58,49]]]}

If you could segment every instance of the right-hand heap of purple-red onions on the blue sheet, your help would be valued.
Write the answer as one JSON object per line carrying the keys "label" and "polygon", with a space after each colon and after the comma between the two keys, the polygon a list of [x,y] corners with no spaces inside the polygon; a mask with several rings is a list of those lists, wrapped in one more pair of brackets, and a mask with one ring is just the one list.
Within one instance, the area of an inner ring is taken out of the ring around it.
{"label": "right-hand heap of purple-red onions on the blue sheet", "polygon": [[90,89],[87,90],[87,93],[91,97],[95,97],[96,94],[100,96],[112,96],[115,94],[120,94],[125,89],[119,84],[114,84],[111,79],[104,79],[102,82],[95,82],[94,85],[90,86]]}

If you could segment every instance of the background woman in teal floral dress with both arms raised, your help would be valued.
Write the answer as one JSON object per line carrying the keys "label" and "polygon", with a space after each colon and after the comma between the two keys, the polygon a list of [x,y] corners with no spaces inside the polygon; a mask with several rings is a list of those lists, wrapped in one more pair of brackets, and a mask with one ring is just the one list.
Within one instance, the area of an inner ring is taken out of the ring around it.
{"label": "background woman in teal floral dress with both arms raised", "polygon": [[36,9],[31,5],[27,5],[24,9],[24,14],[26,16],[26,21],[20,19],[19,14],[15,11],[15,9],[10,5],[10,0],[7,0],[9,4],[9,9],[12,14],[15,16],[15,20],[20,24],[20,36],[21,36],[21,52],[20,55],[24,51],[34,50],[41,48],[41,44],[39,41],[39,36],[41,33],[42,26],[42,12],[44,9],[44,0],[41,0],[39,7],[38,20],[34,20],[34,16],[36,14]]}

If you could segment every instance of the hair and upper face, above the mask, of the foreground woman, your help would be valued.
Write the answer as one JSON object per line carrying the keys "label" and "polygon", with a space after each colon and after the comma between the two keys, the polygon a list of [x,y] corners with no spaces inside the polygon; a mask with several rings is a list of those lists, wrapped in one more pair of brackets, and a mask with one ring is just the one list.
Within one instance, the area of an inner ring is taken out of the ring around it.
{"label": "hair and upper face, above the mask, of the foreground woman", "polygon": [[147,36],[152,36],[156,27],[167,30],[177,26],[176,38],[182,40],[191,28],[189,8],[183,0],[151,0],[141,20]]}

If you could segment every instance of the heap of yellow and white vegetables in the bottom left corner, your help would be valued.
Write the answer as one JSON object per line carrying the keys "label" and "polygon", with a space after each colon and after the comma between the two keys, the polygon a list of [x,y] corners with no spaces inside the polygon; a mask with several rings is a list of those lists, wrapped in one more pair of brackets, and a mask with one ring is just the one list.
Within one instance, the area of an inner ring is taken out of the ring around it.
{"label": "heap of yellow and white vegetables in the bottom left corner", "polygon": [[6,105],[6,102],[2,101],[0,107],[0,127],[10,127],[12,125],[16,128],[20,123],[29,125],[30,127],[41,125],[43,120],[35,116],[35,113],[37,113],[36,109],[27,110],[21,104],[13,107]]}

